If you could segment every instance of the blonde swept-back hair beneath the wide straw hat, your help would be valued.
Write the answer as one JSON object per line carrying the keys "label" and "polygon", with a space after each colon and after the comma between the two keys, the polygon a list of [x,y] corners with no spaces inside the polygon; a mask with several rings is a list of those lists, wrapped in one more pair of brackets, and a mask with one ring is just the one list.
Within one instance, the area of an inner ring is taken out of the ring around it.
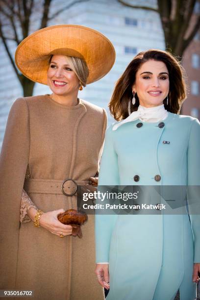
{"label": "blonde swept-back hair beneath the wide straw hat", "polygon": [[[50,55],[49,64],[51,62],[52,56],[53,55]],[[75,72],[75,75],[78,77],[80,81],[80,85],[85,87],[89,75],[89,69],[85,60],[74,56],[66,56],[66,58],[68,60],[71,69]]]}

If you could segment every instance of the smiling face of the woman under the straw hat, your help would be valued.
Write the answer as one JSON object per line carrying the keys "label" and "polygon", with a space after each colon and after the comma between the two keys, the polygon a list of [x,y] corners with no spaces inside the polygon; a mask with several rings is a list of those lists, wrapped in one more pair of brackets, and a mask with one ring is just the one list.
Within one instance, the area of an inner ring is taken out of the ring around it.
{"label": "smiling face of the woman under the straw hat", "polygon": [[79,79],[72,70],[67,56],[53,55],[47,72],[51,91],[59,96],[77,96]]}

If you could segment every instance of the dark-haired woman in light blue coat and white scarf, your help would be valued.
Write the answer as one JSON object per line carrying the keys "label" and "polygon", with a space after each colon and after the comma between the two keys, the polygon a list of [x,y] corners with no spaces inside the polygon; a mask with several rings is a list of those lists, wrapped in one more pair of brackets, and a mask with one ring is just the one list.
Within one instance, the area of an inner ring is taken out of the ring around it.
{"label": "dark-haired woman in light blue coat and white scarf", "polygon": [[[99,189],[200,186],[200,123],[178,114],[185,98],[182,69],[170,53],[148,50],[130,62],[109,104],[121,122],[106,131]],[[178,290],[180,300],[195,299],[200,193],[191,191],[190,216],[185,206],[182,214],[96,215],[96,274],[110,288],[106,300],[174,300]]]}

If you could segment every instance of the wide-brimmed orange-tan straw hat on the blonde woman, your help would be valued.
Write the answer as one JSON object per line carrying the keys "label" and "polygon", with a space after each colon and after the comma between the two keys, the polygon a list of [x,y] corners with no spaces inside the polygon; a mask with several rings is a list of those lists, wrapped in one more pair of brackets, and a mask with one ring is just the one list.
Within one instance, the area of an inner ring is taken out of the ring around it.
{"label": "wide-brimmed orange-tan straw hat on the blonde woman", "polygon": [[86,61],[87,84],[106,75],[115,62],[112,43],[99,31],[81,25],[53,25],[30,34],[18,46],[15,62],[26,77],[47,84],[50,55],[67,55]]}

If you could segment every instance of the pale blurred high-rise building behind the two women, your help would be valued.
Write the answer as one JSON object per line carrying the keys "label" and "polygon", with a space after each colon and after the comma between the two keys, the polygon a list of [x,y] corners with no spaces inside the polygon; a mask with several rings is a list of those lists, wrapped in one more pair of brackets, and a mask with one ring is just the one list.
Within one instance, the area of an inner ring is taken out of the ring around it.
{"label": "pale blurred high-rise building behind the two women", "polygon": [[[73,2],[73,1],[71,1]],[[129,3],[149,5],[156,8],[156,0],[130,1]],[[138,3],[137,3],[138,2]],[[67,1],[69,4],[69,1]],[[66,6],[65,0],[53,0],[50,14]],[[116,80],[127,64],[142,50],[165,49],[164,36],[159,15],[144,9],[132,9],[117,0],[89,0],[73,5],[55,17],[49,25],[79,24],[92,27],[105,34],[116,50],[116,62],[112,70],[98,82],[90,84],[79,92],[79,97],[107,109]],[[36,12],[32,16],[31,32],[39,26]],[[11,42],[10,42],[11,43]],[[11,44],[13,55],[16,49]],[[4,46],[0,45],[0,145],[2,143],[7,115],[13,101],[23,96],[23,91],[9,62]],[[34,95],[50,93],[47,86],[36,84]],[[108,111],[108,110],[107,110]],[[109,124],[113,119],[109,117]]]}

